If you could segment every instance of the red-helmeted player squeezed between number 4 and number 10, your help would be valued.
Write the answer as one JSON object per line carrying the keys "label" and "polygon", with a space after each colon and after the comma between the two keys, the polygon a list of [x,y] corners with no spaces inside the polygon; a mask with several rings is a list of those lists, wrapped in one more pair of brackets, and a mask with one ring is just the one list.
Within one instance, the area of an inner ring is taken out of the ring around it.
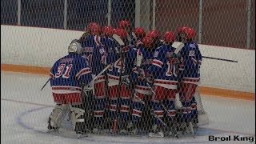
{"label": "red-helmeted player squeezed between number 4 and number 10", "polygon": [[[155,39],[154,39],[155,38]],[[132,120],[127,126],[127,132],[133,134],[137,133],[137,127],[142,118],[142,110],[144,108],[142,102],[147,102],[152,95],[152,91],[148,87],[153,86],[153,79],[145,78],[145,71],[151,66],[154,59],[154,42],[157,42],[159,36],[156,37],[147,36],[142,39],[143,46],[139,47],[138,53],[142,54],[141,66],[136,66],[133,70],[132,81],[134,82],[134,94],[132,99]]]}

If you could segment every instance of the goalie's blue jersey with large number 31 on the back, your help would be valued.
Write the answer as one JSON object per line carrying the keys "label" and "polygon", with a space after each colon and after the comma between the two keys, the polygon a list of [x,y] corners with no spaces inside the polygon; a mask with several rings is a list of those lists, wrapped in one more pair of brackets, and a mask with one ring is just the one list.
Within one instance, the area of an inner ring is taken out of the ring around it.
{"label": "goalie's blue jersey with large number 31 on the back", "polygon": [[50,70],[50,77],[50,86],[56,94],[77,93],[82,84],[92,80],[89,63],[79,54],[58,59]]}

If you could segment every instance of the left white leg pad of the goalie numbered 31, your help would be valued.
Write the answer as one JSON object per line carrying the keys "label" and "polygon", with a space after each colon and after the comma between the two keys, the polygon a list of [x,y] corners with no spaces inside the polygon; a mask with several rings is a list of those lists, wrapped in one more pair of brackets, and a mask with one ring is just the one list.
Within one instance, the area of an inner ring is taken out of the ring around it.
{"label": "left white leg pad of the goalie numbered 31", "polygon": [[54,106],[53,112],[50,114],[50,126],[60,127],[67,112],[69,110],[69,106],[66,104]]}

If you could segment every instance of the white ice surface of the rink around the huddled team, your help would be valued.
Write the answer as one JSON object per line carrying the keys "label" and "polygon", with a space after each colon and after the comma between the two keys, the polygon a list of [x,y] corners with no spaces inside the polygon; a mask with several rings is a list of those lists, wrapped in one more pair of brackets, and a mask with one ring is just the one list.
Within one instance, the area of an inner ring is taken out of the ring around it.
{"label": "white ice surface of the rink around the huddled team", "polygon": [[218,143],[209,141],[209,135],[240,135],[255,140],[255,102],[213,96],[202,96],[210,123],[199,127],[196,138],[89,134],[78,139],[74,131],[66,129],[58,134],[46,134],[47,120],[54,106],[50,84],[40,91],[47,79],[45,75],[1,72],[1,143]]}

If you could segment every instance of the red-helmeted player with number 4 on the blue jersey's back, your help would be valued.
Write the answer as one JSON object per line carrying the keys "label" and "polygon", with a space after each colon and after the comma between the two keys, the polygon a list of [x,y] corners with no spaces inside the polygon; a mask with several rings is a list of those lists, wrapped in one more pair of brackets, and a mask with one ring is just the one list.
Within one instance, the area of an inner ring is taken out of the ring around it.
{"label": "red-helmeted player with number 4 on the blue jersey's back", "polygon": [[[127,42],[126,30],[116,29],[117,34],[123,42]],[[110,118],[112,118],[113,124],[116,124],[119,116],[122,124],[121,129],[125,129],[127,126],[128,116],[130,112],[130,98],[132,95],[131,90],[122,83],[122,80],[126,82],[130,81],[130,74],[134,66],[137,50],[134,50],[130,46],[118,46],[110,49],[106,62],[112,64],[108,70],[108,86],[109,86],[109,98],[110,98]],[[118,115],[118,105],[120,113]],[[113,125],[112,130],[116,130],[116,125]]]}

